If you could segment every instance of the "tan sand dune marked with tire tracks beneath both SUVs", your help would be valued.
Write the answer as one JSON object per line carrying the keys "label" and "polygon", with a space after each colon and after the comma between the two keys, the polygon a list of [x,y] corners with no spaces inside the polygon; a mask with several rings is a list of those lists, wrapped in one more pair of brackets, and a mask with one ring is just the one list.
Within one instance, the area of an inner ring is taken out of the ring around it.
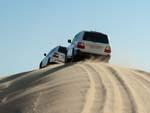
{"label": "tan sand dune marked with tire tracks beneath both SUVs", "polygon": [[16,74],[0,80],[0,113],[150,113],[150,73],[86,61]]}

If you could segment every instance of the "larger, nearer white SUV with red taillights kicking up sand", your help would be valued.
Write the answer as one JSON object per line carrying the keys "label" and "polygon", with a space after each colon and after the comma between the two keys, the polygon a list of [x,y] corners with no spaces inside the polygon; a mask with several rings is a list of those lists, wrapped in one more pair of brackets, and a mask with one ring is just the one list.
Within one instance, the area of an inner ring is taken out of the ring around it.
{"label": "larger, nearer white SUV with red taillights kicking up sand", "polygon": [[75,35],[73,41],[68,40],[66,62],[83,55],[108,56],[110,58],[111,47],[108,36],[94,31],[82,31]]}

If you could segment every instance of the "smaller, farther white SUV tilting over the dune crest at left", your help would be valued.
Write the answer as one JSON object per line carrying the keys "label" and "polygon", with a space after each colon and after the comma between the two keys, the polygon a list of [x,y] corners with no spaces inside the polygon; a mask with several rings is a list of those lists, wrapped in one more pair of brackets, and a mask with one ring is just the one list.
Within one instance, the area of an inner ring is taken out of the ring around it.
{"label": "smaller, farther white SUV tilting over the dune crest at left", "polygon": [[47,55],[44,53],[45,58],[41,61],[39,68],[44,68],[50,64],[56,64],[60,62],[64,63],[66,53],[67,48],[62,46],[55,47]]}

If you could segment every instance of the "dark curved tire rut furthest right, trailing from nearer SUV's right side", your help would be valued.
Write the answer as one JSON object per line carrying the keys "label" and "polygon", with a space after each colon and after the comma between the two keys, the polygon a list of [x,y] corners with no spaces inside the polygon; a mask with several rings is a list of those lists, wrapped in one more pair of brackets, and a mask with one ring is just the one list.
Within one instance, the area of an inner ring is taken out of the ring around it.
{"label": "dark curved tire rut furthest right, trailing from nearer SUV's right side", "polygon": [[118,82],[122,86],[122,88],[125,90],[126,95],[130,101],[131,113],[138,113],[137,112],[138,109],[137,109],[134,97],[133,97],[130,89],[128,88],[128,86],[124,82],[124,80],[120,77],[119,73],[114,68],[112,68],[110,66],[108,66],[107,68],[112,73],[112,75],[118,80]]}

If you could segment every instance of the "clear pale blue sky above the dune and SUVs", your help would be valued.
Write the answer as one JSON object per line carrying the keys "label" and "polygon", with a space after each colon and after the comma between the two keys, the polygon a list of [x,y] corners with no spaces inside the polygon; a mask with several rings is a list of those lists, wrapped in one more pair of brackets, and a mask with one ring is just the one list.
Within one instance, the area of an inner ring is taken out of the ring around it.
{"label": "clear pale blue sky above the dune and SUVs", "polygon": [[109,35],[111,63],[150,70],[150,1],[0,0],[0,75],[36,69],[82,30]]}

